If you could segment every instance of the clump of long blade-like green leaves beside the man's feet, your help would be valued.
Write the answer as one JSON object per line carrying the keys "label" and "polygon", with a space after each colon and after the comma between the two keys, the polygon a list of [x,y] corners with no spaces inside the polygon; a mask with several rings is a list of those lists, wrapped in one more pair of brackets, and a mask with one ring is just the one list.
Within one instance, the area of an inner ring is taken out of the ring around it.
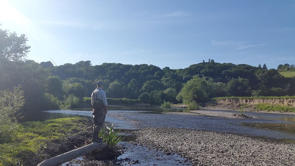
{"label": "clump of long blade-like green leaves beside the man's feet", "polygon": [[116,146],[119,142],[124,139],[124,136],[120,134],[121,130],[114,130],[113,124],[110,128],[102,128],[98,134],[99,137],[103,137],[103,142],[108,144],[110,147]]}

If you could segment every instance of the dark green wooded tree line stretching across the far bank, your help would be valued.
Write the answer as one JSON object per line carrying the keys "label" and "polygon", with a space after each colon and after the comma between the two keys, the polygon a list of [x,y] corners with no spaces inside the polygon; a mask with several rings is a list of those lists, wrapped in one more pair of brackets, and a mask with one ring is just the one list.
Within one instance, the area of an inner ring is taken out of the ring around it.
{"label": "dark green wooded tree line stretching across the far bank", "polygon": [[212,97],[295,94],[295,79],[267,69],[266,64],[255,67],[209,59],[184,69],[161,69],[147,64],[92,65],[86,60],[54,66],[50,61],[26,59],[30,46],[25,35],[0,29],[0,40],[0,90],[21,85],[24,110],[80,107],[98,80],[104,82],[107,97],[140,99],[157,105],[163,101],[198,104]]}

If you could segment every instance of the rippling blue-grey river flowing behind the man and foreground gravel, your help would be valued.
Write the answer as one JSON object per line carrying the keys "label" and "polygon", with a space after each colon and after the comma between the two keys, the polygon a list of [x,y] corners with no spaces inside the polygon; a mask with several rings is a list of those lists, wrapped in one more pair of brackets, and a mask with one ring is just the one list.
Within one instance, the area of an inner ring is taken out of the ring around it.
{"label": "rippling blue-grey river flowing behind the man and foreground gravel", "polygon": [[[162,112],[188,112],[183,108],[160,108],[155,106],[114,105],[108,106],[106,121],[116,128],[138,129],[144,127],[179,127],[247,134],[295,142],[295,115],[277,113],[245,112],[258,119],[232,119],[223,117],[168,115]],[[226,111],[233,112],[234,111]],[[61,117],[92,116],[86,109],[49,110],[24,121],[43,121]]]}

